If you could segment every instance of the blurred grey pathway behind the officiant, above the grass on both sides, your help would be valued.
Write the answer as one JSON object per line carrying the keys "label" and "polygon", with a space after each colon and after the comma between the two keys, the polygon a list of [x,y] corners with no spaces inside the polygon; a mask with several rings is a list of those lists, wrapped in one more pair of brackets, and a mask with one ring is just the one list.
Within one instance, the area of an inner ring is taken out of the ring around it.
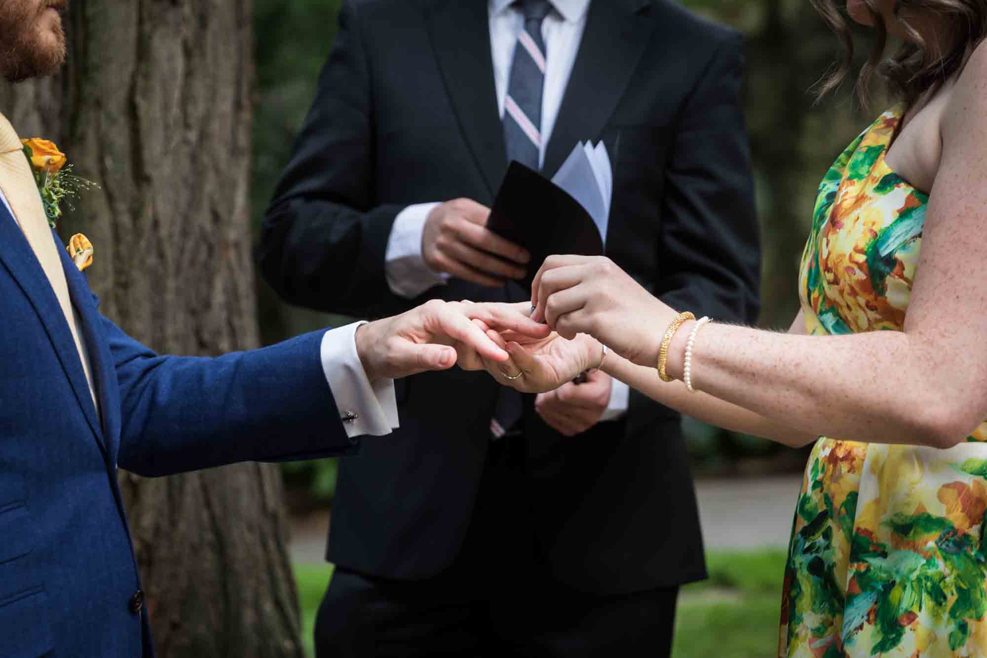
{"label": "blurred grey pathway behind the officiant, above the grass on both sides", "polygon": [[[801,477],[702,479],[696,482],[706,547],[711,550],[784,548]],[[291,558],[322,562],[329,515],[317,513],[291,523]]]}

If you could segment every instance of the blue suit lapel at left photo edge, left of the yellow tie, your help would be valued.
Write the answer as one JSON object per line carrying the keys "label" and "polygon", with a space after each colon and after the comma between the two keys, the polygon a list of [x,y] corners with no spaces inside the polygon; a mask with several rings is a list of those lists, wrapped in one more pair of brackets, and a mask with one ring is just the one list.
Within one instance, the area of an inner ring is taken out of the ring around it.
{"label": "blue suit lapel at left photo edge, left of the yellow tie", "polygon": [[101,447],[106,449],[96,407],[89,393],[89,382],[86,381],[86,373],[82,370],[82,362],[79,361],[79,352],[75,348],[72,332],[65,323],[65,314],[62,313],[54,290],[48,284],[48,279],[38,263],[38,257],[35,256],[14,217],[2,203],[0,203],[0,245],[3,245],[0,249],[0,262],[3,262],[11,276],[17,280],[38,312],[58,361],[61,362],[62,369],[65,370],[65,375],[72,384],[76,400],[82,406],[86,420]]}

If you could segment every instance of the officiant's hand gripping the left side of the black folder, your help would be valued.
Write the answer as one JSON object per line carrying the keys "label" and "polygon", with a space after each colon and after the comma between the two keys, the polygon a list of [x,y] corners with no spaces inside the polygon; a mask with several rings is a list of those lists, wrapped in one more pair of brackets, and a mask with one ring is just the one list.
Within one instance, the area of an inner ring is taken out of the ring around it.
{"label": "officiant's hand gripping the left side of the black folder", "polygon": [[523,279],[531,256],[487,229],[490,214],[489,207],[469,199],[435,207],[421,232],[425,265],[489,288],[500,288],[507,279]]}

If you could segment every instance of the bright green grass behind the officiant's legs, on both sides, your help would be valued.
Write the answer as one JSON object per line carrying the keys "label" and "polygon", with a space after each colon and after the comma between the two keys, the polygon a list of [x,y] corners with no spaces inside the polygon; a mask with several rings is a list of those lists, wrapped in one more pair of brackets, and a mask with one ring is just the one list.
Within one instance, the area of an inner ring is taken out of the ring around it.
{"label": "bright green grass behind the officiant's legs, on both sides", "polygon": [[[674,658],[763,658],[778,645],[785,551],[713,552],[710,579],[682,588]],[[302,640],[312,649],[316,611],[333,574],[329,564],[295,564]]]}

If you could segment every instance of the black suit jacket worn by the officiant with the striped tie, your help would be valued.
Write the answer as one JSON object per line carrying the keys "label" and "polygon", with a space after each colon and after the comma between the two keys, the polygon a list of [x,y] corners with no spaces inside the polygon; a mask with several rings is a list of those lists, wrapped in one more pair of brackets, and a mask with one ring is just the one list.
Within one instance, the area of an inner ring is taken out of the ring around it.
{"label": "black suit jacket worn by the officiant with the striped tie", "polygon": [[[596,0],[548,146],[576,141],[615,167],[607,254],[675,308],[750,322],[758,227],[739,105],[740,37],[666,0]],[[259,245],[288,301],[357,315],[445,299],[523,298],[453,280],[394,295],[384,256],[396,214],[467,197],[490,205],[506,169],[484,0],[349,0]],[[655,327],[655,332],[664,327]],[[457,554],[489,446],[497,384],[428,373],[399,384],[401,430],[342,464],[330,558],[392,578]],[[525,418],[546,568],[594,592],[705,574],[678,416],[633,393],[622,421],[574,440]]]}

